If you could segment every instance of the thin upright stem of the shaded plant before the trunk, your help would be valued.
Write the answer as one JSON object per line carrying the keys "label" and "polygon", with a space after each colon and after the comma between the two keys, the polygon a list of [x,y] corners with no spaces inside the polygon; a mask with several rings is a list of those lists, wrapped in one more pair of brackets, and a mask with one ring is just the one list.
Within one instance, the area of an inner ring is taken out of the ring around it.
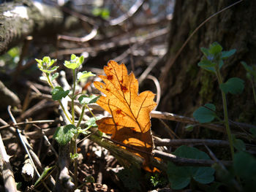
{"label": "thin upright stem of the shaded plant before the trunk", "polygon": [[[217,66],[216,68],[216,74],[217,74],[217,79],[219,82],[219,85],[222,84],[222,76],[219,72],[219,67]],[[222,91],[222,90],[221,90]],[[233,139],[230,131],[230,125],[228,123],[228,115],[227,115],[227,98],[226,94],[222,91],[222,104],[223,104],[223,111],[224,111],[224,123],[225,127],[227,130],[227,137],[228,137],[228,142],[230,143],[230,152],[232,156],[232,160],[234,159],[234,146],[233,146]]]}

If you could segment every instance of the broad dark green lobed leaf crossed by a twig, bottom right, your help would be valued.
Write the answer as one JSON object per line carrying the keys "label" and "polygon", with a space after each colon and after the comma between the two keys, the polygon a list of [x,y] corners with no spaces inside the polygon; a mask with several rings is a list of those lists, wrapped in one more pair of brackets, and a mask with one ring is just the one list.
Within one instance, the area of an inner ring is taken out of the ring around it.
{"label": "broad dark green lobed leaf crossed by a twig, bottom right", "polygon": [[[210,159],[203,151],[194,147],[181,146],[173,153],[182,158]],[[178,190],[189,185],[193,178],[198,183],[208,184],[214,181],[214,169],[200,166],[176,166],[172,162],[167,163],[167,177],[171,188]]]}

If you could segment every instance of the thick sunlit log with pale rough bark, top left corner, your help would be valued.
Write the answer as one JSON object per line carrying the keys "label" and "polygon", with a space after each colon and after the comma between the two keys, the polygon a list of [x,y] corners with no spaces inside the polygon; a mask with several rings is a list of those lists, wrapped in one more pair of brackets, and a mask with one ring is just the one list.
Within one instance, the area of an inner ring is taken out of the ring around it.
{"label": "thick sunlit log with pale rough bark, top left corner", "polygon": [[[0,55],[29,35],[53,34],[71,28],[56,7],[23,0],[0,4]],[[70,23],[69,23],[70,24]]]}

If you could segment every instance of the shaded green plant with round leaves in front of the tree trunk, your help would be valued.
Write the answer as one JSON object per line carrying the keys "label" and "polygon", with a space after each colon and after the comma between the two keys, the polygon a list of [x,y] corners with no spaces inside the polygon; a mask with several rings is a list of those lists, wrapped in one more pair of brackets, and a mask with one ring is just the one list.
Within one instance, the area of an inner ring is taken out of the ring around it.
{"label": "shaded green plant with round leaves in front of the tree trunk", "polygon": [[[223,51],[222,46],[219,43],[214,42],[210,45],[209,48],[201,48],[203,52],[203,58],[198,63],[202,69],[207,70],[216,74],[217,80],[219,82],[219,88],[222,93],[222,105],[224,112],[224,124],[227,131],[228,141],[230,143],[230,152],[232,159],[234,158],[234,142],[236,142],[236,137],[231,135],[230,126],[228,123],[228,114],[227,114],[227,93],[238,94],[242,93],[244,90],[244,81],[238,77],[231,77],[226,82],[223,82],[220,69],[224,65],[224,60],[229,58],[231,55],[236,53],[236,50]],[[214,118],[220,120],[217,116],[214,104],[206,104],[203,107],[199,107],[194,113],[194,118],[200,123],[209,123]],[[237,145],[235,145],[236,147]],[[240,145],[239,145],[240,146]]]}

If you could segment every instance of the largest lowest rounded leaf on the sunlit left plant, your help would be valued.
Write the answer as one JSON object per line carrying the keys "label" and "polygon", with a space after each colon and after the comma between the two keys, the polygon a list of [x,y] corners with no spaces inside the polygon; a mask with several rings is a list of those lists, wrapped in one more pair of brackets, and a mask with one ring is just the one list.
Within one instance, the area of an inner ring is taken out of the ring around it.
{"label": "largest lowest rounded leaf on the sunlit left plant", "polygon": [[59,143],[59,145],[67,145],[67,143],[72,139],[72,137],[77,134],[77,128],[69,124],[67,126],[60,126],[56,129],[53,139]]}

